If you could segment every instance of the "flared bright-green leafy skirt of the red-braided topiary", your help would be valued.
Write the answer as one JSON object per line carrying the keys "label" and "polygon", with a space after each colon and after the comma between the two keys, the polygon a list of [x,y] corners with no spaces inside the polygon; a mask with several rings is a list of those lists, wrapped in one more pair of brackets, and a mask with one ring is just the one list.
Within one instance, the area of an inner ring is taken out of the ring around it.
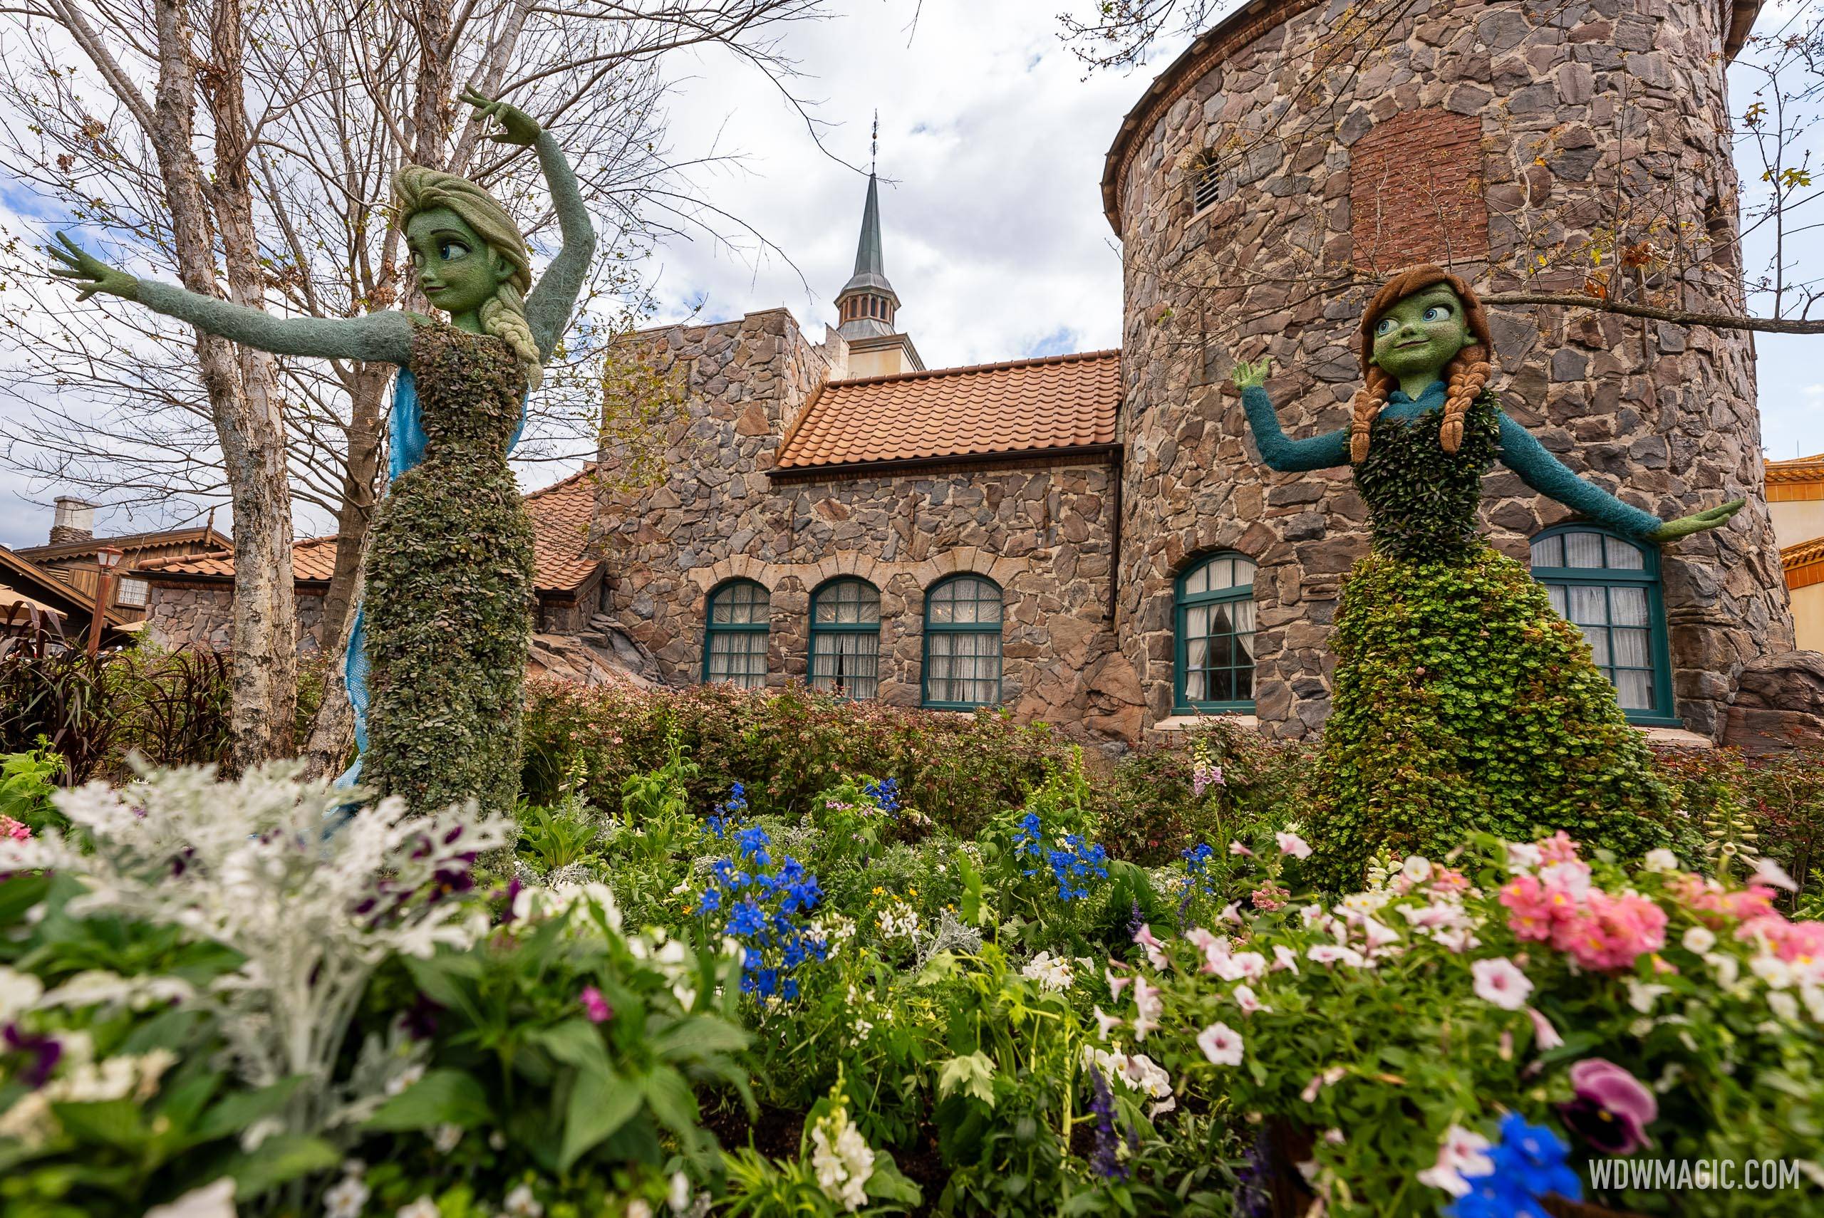
{"label": "flared bright-green leafy skirt of the red-braided topiary", "polygon": [[1487,545],[1370,554],[1342,589],[1310,875],[1361,883],[1368,857],[1441,857],[1472,831],[1565,830],[1638,855],[1671,842],[1671,793],[1581,633]]}

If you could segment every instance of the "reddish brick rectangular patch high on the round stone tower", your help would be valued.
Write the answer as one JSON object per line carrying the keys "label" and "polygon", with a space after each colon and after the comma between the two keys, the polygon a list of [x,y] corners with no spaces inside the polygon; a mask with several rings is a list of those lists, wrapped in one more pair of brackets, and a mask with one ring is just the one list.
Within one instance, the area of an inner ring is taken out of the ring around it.
{"label": "reddish brick rectangular patch high on the round stone tower", "polygon": [[1481,119],[1426,106],[1370,128],[1350,146],[1350,230],[1377,272],[1488,257]]}

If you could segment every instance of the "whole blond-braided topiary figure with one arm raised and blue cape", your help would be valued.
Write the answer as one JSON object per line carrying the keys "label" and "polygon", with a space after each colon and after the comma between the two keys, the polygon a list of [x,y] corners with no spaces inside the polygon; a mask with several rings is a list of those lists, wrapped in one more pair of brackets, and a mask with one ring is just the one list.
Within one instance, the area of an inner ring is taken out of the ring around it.
{"label": "whole blond-braided topiary figure with one arm raised and blue cape", "polygon": [[399,365],[389,419],[392,481],[372,527],[363,609],[348,644],[361,760],[350,771],[416,811],[518,793],[520,700],[531,636],[533,531],[507,452],[525,394],[576,306],[595,228],[564,151],[505,102],[498,142],[538,150],[564,235],[533,286],[525,239],[474,182],[409,164],[392,179],[418,286],[449,314],[272,317],[106,266],[58,233],[58,275],[285,356]]}

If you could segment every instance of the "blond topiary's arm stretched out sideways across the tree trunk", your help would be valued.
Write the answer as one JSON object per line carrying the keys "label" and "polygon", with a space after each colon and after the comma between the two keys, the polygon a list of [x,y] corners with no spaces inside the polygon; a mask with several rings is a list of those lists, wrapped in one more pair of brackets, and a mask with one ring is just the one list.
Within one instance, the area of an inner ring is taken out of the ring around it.
{"label": "blond topiary's arm stretched out sideways across the tree trunk", "polygon": [[97,292],[139,301],[146,308],[188,321],[197,330],[219,334],[244,346],[275,356],[323,356],[326,359],[383,359],[403,365],[412,354],[412,323],[401,312],[365,317],[274,317],[213,295],[184,292],[157,279],[135,279],[84,252],[64,233],[60,246],[47,246],[51,274],[78,284],[77,299]]}

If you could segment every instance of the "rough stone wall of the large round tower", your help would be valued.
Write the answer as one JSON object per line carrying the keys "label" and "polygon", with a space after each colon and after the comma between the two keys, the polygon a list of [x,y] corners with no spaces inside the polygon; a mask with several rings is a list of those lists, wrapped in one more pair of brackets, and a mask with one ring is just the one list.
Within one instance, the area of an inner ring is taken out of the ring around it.
{"label": "rough stone wall of the large round tower", "polygon": [[[1364,507],[1346,469],[1264,469],[1226,381],[1233,359],[1271,354],[1268,390],[1291,436],[1346,425],[1361,376],[1350,341],[1368,295],[1359,272],[1394,270],[1361,266],[1373,250],[1357,248],[1368,243],[1352,213],[1363,202],[1353,148],[1383,124],[1421,142],[1428,128],[1459,139],[1463,119],[1479,124],[1477,144],[1448,159],[1456,179],[1414,155],[1423,171],[1377,195],[1412,204],[1384,208],[1406,217],[1384,243],[1403,261],[1450,261],[1481,290],[1581,290],[1589,239],[1620,221],[1687,255],[1687,308],[1738,306],[1727,11],[1443,0],[1408,15],[1279,0],[1218,33],[1142,119],[1113,179],[1129,441],[1116,629],[1149,722],[1171,706],[1173,576],[1217,547],[1259,563],[1262,726],[1302,737],[1328,715],[1326,633],[1341,578],[1368,547]],[[1370,53],[1350,51],[1350,38]],[[1206,153],[1220,162],[1218,201],[1195,212],[1191,173]],[[1368,160],[1384,170],[1384,157]],[[1450,191],[1465,190],[1481,193],[1487,232],[1465,239],[1432,222],[1430,241],[1417,239],[1412,217],[1448,213]],[[1352,275],[1357,286],[1333,286]],[[1667,547],[1662,562],[1676,709],[1715,735],[1735,675],[1793,645],[1751,341],[1561,308],[1490,312],[1503,405],[1570,469],[1662,518],[1747,496],[1727,527]],[[1499,467],[1485,481],[1490,536],[1516,558],[1565,518]]]}

